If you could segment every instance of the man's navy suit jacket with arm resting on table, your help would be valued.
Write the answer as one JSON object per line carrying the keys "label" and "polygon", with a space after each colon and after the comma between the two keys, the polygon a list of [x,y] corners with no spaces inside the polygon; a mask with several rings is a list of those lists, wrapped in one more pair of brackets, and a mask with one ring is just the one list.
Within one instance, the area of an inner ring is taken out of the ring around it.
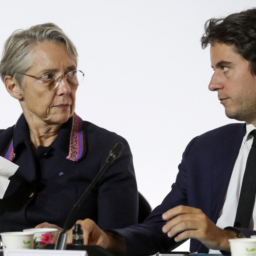
{"label": "man's navy suit jacket with arm resting on table", "polygon": [[[117,230],[131,256],[152,255],[177,247],[173,238],[162,233],[162,214],[178,205],[200,208],[214,223],[225,200],[234,164],[239,153],[245,124],[228,124],[198,136],[188,144],[172,190],[143,224]],[[241,229],[246,237],[256,231]],[[191,252],[208,252],[191,239]]]}

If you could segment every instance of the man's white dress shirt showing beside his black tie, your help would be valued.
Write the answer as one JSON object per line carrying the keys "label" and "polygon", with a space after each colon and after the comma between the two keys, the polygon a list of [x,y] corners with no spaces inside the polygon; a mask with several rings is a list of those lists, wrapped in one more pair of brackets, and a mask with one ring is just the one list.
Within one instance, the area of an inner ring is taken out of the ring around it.
{"label": "man's white dress shirt showing beside his black tie", "polygon": [[[230,184],[226,193],[226,198],[216,223],[216,225],[221,229],[224,229],[226,226],[234,225],[241,185],[245,173],[245,166],[253,141],[253,136],[249,135],[249,133],[254,129],[256,128],[252,124],[246,125],[246,134],[242,141],[241,148],[230,178]],[[254,204],[252,218],[249,223],[249,229],[254,230],[256,228],[254,224],[255,222],[256,206]],[[220,251],[210,249],[209,253],[220,253]]]}

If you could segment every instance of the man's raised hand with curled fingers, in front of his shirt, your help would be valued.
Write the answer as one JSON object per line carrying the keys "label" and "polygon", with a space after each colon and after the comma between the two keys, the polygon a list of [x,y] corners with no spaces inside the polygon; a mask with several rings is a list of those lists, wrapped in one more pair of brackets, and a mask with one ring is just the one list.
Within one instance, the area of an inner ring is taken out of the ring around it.
{"label": "man's raised hand with curled fingers, in front of his shirt", "polygon": [[234,237],[233,232],[218,228],[200,209],[180,205],[166,211],[162,218],[166,220],[162,231],[175,237],[176,242],[194,238],[208,248],[230,251],[228,239]]}

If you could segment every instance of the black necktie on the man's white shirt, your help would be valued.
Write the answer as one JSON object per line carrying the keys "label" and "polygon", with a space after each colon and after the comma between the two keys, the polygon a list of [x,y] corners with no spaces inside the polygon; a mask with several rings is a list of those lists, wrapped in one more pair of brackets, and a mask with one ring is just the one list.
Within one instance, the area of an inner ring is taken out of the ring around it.
{"label": "black necktie on the man's white shirt", "polygon": [[252,148],[246,162],[237,215],[234,222],[234,227],[241,228],[248,228],[249,226],[256,194],[256,130],[253,130],[250,134],[253,136]]}

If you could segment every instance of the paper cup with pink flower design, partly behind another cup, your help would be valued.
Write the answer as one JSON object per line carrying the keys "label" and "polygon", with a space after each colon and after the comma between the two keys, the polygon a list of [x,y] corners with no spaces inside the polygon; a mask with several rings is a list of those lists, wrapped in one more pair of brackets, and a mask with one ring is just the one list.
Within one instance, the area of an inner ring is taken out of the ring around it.
{"label": "paper cup with pink flower design, partly behind another cup", "polygon": [[41,249],[45,245],[56,242],[57,229],[26,229],[23,232],[34,233],[34,249]]}

